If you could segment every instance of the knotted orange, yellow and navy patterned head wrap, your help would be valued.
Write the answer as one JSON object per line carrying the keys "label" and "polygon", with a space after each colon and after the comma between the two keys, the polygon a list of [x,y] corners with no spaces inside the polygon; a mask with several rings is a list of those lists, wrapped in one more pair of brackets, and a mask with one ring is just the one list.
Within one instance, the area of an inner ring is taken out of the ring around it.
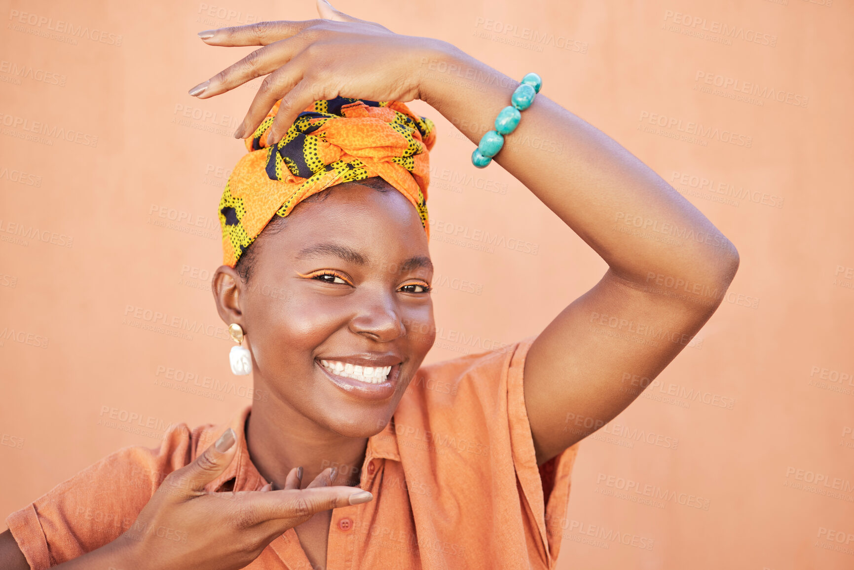
{"label": "knotted orange, yellow and navy patterned head wrap", "polygon": [[219,201],[223,263],[235,267],[243,251],[273,215],[286,216],[303,199],[341,184],[379,176],[407,197],[430,237],[427,186],[433,121],[413,115],[398,101],[348,97],[315,101],[287,134],[270,146],[267,137],[279,100],[251,138],[249,154],[229,176]]}

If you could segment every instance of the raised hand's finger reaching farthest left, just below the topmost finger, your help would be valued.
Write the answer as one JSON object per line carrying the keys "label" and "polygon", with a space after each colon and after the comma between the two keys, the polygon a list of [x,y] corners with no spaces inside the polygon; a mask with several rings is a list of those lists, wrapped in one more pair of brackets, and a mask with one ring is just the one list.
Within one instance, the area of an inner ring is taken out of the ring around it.
{"label": "raised hand's finger reaching farthest left, just below the topmost finger", "polygon": [[190,89],[189,93],[193,97],[207,99],[225,93],[225,91],[231,91],[256,77],[281,68],[285,63],[290,62],[292,57],[300,53],[307,42],[307,38],[296,36],[265,45],[254,50],[239,62],[223,69],[211,79],[196,85]]}

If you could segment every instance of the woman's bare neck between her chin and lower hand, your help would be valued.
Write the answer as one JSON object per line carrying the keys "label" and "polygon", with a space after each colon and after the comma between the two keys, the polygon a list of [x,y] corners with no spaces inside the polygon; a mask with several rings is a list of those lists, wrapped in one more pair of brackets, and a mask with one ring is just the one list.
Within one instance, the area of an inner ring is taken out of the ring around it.
{"label": "woman's bare neck between her chin and lower hand", "polygon": [[284,488],[294,467],[302,467],[302,488],[325,468],[337,467],[335,485],[359,485],[367,438],[345,438],[307,419],[275,392],[256,400],[246,422],[249,457],[273,489]]}

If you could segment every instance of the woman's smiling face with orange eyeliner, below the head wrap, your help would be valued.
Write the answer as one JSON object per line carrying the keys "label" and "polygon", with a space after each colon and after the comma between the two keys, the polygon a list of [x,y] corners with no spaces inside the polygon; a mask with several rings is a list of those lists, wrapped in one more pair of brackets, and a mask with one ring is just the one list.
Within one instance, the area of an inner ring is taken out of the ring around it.
{"label": "woman's smiling face with orange eyeliner, below the head wrap", "polygon": [[240,314],[224,319],[243,326],[256,390],[363,438],[389,422],[433,345],[433,267],[399,191],[333,190],[255,241],[249,280],[237,283]]}

